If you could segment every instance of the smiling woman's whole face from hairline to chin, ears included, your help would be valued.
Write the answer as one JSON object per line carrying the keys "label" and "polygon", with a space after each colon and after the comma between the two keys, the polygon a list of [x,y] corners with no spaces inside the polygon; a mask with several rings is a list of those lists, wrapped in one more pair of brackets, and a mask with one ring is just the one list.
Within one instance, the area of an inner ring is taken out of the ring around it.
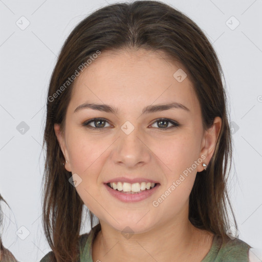
{"label": "smiling woman's whole face from hairline to chin, ears included", "polygon": [[[100,223],[141,233],[188,219],[189,194],[216,134],[204,132],[199,101],[181,72],[161,53],[102,52],[76,78],[64,135],[58,124],[55,132],[65,168]],[[178,104],[159,106],[171,103]],[[113,182],[119,191],[106,184]],[[156,187],[145,189],[151,183]]]}

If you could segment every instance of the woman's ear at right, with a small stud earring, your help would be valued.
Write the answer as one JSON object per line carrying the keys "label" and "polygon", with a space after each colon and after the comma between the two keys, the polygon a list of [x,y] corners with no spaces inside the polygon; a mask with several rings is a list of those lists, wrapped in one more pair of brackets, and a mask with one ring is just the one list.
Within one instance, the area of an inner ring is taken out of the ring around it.
{"label": "woman's ear at right, with a small stud earring", "polygon": [[[205,135],[202,140],[202,147],[200,152],[200,157],[203,159],[202,163],[205,163],[206,165],[209,164],[210,159],[213,156],[215,145],[217,138],[219,137],[220,130],[222,126],[222,119],[220,117],[215,117],[213,125],[205,131]],[[204,159],[203,156],[206,158]],[[198,165],[197,171],[201,172],[204,170],[204,167],[201,165]]]}

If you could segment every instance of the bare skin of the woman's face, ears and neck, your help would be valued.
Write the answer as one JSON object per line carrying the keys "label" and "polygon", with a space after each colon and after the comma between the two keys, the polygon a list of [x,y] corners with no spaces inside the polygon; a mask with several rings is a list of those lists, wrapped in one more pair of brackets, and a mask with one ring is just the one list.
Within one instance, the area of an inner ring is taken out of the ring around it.
{"label": "bare skin of the woman's face, ears and neck", "polygon": [[[54,125],[67,160],[65,168],[82,179],[76,190],[101,224],[93,261],[196,262],[211,247],[213,234],[188,220],[189,194],[197,172],[204,169],[202,163],[158,207],[152,205],[195,160],[205,156],[203,163],[208,165],[221,129],[219,117],[210,129],[203,129],[191,81],[186,77],[178,82],[173,77],[179,68],[182,65],[167,61],[161,52],[102,52],[75,80],[64,132]],[[172,108],[141,115],[145,106],[174,101],[190,111]],[[110,104],[119,108],[119,114],[90,108],[74,113],[85,102]],[[106,119],[98,125],[104,129],[81,125],[92,118]],[[167,122],[163,127],[158,118],[180,126],[168,129],[173,125]],[[121,129],[126,121],[135,127],[129,135]],[[104,182],[124,174],[158,181],[160,187],[143,201],[121,202],[107,192]],[[126,226],[134,232],[129,239],[121,233]]]}

